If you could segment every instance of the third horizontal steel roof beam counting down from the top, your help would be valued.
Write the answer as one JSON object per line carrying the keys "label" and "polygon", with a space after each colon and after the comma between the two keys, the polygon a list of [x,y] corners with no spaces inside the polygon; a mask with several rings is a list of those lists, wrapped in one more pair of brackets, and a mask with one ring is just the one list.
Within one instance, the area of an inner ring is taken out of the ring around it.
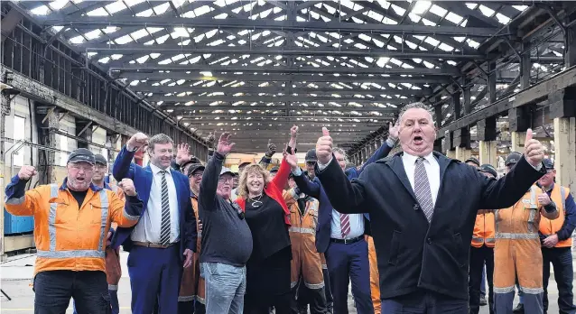
{"label": "third horizontal steel roof beam counting down from the top", "polygon": [[153,72],[153,73],[143,73],[143,72],[127,72],[122,73],[119,78],[127,78],[128,80],[164,80],[164,79],[188,79],[188,80],[237,80],[237,81],[258,81],[258,82],[271,82],[271,81],[305,81],[305,82],[371,82],[371,83],[412,83],[412,84],[443,84],[451,83],[451,78],[449,77],[403,77],[403,76],[334,76],[334,75],[302,75],[302,74],[270,74],[270,75],[253,75],[252,73],[242,73],[242,74],[228,74],[228,75],[216,75],[216,76],[205,76],[193,73],[181,73],[181,72]]}

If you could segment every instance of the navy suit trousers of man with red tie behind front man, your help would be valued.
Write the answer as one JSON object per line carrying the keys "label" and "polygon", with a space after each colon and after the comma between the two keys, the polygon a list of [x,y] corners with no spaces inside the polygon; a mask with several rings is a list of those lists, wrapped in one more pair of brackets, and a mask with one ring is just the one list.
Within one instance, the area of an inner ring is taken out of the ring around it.
{"label": "navy suit trousers of man with red tie behind front man", "polygon": [[348,245],[330,243],[325,255],[334,298],[334,314],[348,314],[350,280],[358,314],[373,314],[367,242],[362,239]]}

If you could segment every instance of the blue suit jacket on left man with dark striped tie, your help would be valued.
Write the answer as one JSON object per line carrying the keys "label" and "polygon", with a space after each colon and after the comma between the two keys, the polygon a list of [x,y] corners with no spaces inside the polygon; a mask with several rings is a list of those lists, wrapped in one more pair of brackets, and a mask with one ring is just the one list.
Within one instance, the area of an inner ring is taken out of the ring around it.
{"label": "blue suit jacket on left man with dark striped tie", "polygon": [[[150,198],[150,189],[152,188],[153,173],[150,166],[145,168],[132,162],[135,152],[128,152],[126,147],[116,157],[114,166],[112,167],[112,174],[116,180],[125,178],[134,180],[134,185],[138,196],[144,203],[144,210],[142,216],[146,211],[148,199]],[[180,212],[180,251],[181,260],[184,259],[184,249],[196,251],[196,217],[192,209],[190,200],[190,183],[188,177],[179,171],[172,171],[172,179],[176,187],[176,195],[178,196],[178,210]],[[112,247],[124,245],[125,250],[129,251],[132,247],[130,234],[132,234],[134,227],[123,228],[118,227],[112,239]]]}

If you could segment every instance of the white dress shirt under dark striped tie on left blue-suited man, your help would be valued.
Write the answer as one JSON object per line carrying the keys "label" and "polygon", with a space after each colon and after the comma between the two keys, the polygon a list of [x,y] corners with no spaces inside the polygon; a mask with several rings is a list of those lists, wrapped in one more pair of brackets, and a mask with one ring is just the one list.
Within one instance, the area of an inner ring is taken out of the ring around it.
{"label": "white dress shirt under dark striped tie on left blue-suited man", "polygon": [[[150,164],[152,170],[152,187],[150,198],[146,204],[143,217],[136,224],[130,238],[132,241],[160,243],[160,228],[162,225],[162,169]],[[180,240],[180,216],[178,215],[178,196],[176,185],[172,178],[172,169],[168,168],[165,174],[168,186],[168,203],[170,204],[170,243]]]}

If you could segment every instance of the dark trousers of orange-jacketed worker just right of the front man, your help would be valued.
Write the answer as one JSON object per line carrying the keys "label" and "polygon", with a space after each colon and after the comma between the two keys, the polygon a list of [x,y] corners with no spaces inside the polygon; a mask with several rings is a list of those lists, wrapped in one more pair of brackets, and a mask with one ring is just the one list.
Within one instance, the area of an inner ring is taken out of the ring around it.
{"label": "dark trousers of orange-jacketed worker just right of the front man", "polygon": [[486,263],[486,277],[488,279],[488,307],[490,314],[494,314],[494,249],[486,245],[470,247],[469,265],[469,305],[470,313],[478,314],[480,310],[480,286],[484,281],[482,272]]}

